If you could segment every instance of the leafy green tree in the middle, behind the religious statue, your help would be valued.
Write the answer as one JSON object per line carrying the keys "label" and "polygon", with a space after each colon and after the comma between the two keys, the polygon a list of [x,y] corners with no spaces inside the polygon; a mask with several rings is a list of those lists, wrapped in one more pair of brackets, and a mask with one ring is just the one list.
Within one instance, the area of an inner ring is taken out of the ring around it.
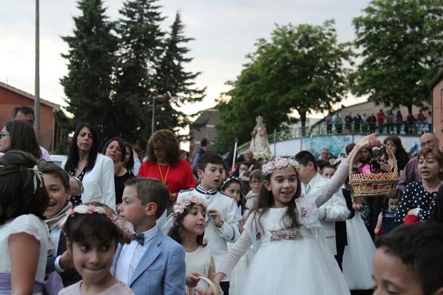
{"label": "leafy green tree in the middle, behind the religious statue", "polygon": [[222,123],[217,126],[218,143],[239,143],[250,139],[255,118],[263,116],[268,133],[297,111],[304,127],[307,114],[329,110],[345,95],[352,51],[338,43],[329,20],[321,26],[302,24],[278,26],[271,40],[259,39],[257,49],[247,56],[236,81],[218,108]]}

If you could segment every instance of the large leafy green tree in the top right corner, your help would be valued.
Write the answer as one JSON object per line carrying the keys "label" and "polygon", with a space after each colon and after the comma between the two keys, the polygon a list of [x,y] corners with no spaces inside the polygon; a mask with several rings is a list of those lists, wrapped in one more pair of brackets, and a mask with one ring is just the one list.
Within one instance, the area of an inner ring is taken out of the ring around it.
{"label": "large leafy green tree in the top right corner", "polygon": [[363,61],[352,92],[392,108],[429,102],[427,83],[443,65],[442,0],[374,0],[353,19]]}

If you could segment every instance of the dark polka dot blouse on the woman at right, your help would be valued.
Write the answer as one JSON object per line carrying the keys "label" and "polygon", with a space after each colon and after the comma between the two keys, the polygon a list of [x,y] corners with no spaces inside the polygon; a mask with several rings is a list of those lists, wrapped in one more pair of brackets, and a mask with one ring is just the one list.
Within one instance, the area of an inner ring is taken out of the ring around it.
{"label": "dark polka dot blouse on the woman at right", "polygon": [[413,208],[421,209],[419,215],[420,222],[428,220],[434,210],[436,195],[437,191],[426,191],[421,181],[411,182],[403,193],[402,200],[395,213],[395,222],[403,224],[406,214]]}

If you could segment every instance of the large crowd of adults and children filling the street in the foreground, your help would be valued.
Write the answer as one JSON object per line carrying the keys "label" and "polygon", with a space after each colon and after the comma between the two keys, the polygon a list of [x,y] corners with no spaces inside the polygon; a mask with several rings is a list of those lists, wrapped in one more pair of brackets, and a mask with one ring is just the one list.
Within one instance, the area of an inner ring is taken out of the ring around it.
{"label": "large crowd of adults and children filling the street in the foreground", "polygon": [[[169,130],[146,155],[119,137],[99,153],[80,123],[59,167],[31,111],[0,132],[0,294],[443,294],[432,133],[412,157],[371,134],[344,155],[226,161],[207,139],[190,159]],[[395,170],[395,193],[354,196],[351,171]]]}

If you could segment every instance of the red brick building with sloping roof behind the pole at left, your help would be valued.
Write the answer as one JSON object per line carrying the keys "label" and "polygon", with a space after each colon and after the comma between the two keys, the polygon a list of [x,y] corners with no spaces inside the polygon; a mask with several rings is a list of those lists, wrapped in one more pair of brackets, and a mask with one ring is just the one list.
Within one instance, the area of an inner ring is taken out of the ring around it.
{"label": "red brick building with sloping roof behind the pole at left", "polygon": [[[34,108],[34,96],[30,93],[16,89],[10,85],[0,82],[0,128],[11,118],[15,106],[29,106]],[[60,105],[40,98],[40,145],[48,151],[58,148],[63,135],[59,124],[55,120],[55,114],[64,113]],[[55,132],[54,132],[55,131]]]}

